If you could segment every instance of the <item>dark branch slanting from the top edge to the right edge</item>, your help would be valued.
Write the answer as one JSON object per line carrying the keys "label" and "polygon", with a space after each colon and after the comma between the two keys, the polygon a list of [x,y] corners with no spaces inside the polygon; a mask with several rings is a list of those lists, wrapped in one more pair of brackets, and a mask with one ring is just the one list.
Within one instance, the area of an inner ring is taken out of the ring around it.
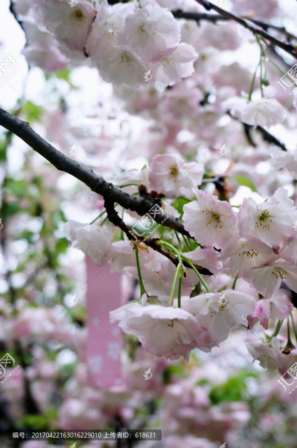
{"label": "dark branch slanting from the top edge to the right edge", "polygon": [[[211,9],[214,9],[215,11],[219,12],[221,15],[223,15],[227,19],[234,20],[235,22],[244,26],[244,28],[249,29],[253,34],[261,36],[263,39],[265,39],[267,45],[273,44],[279,48],[282,48],[284,51],[291,54],[291,56],[293,56],[294,58],[297,59],[296,49],[290,43],[282,42],[281,40],[276,39],[275,37],[268,34],[263,29],[255,28],[254,26],[250,25],[245,19],[243,19],[239,15],[234,15],[231,12],[225,11],[223,8],[220,8],[219,6],[215,5],[214,3],[211,3],[210,1],[205,1],[205,0],[196,0],[196,1],[197,1],[197,3],[204,6],[206,10],[210,11]],[[251,21],[251,20],[249,20],[249,21]]]}

